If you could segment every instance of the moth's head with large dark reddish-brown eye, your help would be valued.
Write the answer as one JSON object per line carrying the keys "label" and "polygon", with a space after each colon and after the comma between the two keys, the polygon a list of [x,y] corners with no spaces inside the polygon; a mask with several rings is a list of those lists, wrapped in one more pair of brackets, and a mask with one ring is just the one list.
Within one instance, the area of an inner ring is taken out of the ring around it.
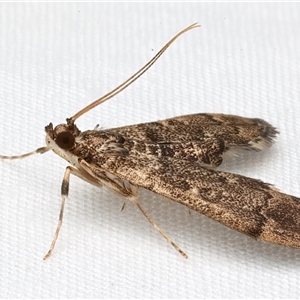
{"label": "moth's head with large dark reddish-brown eye", "polygon": [[50,123],[45,131],[46,144],[53,150],[71,150],[75,147],[75,138],[80,134],[75,124],[59,124],[53,129],[53,124]]}

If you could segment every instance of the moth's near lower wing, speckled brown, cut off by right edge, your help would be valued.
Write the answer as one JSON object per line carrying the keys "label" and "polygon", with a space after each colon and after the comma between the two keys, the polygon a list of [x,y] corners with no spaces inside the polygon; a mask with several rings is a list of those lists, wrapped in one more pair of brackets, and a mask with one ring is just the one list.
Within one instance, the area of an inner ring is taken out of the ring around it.
{"label": "moth's near lower wing, speckled brown, cut off by right edge", "polygon": [[300,248],[300,199],[260,180],[168,157],[116,157],[99,168],[254,238]]}

